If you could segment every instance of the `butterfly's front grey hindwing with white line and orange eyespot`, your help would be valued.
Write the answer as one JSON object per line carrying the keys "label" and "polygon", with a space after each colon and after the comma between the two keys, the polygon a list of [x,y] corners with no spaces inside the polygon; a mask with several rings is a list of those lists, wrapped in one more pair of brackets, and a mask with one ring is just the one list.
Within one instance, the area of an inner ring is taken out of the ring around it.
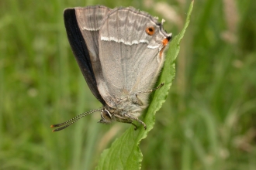
{"label": "butterfly's front grey hindwing with white line and orange eyespot", "polygon": [[[153,36],[147,34],[148,27],[154,27]],[[104,81],[98,87],[103,98],[135,97],[139,91],[150,90],[164,60],[159,53],[167,37],[157,19],[133,8],[118,8],[109,13],[99,36]]]}

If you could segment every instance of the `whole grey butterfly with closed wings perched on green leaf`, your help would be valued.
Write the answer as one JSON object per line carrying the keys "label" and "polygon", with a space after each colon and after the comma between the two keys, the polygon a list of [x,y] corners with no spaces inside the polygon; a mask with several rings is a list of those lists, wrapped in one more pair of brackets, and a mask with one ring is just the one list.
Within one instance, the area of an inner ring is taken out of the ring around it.
{"label": "whole grey butterfly with closed wings perched on green leaf", "polygon": [[64,10],[67,38],[88,87],[103,107],[89,110],[61,124],[53,131],[67,128],[81,117],[101,112],[99,123],[114,121],[133,124],[148,106],[164,63],[164,49],[171,33],[163,22],[133,7],[108,8],[102,5]]}

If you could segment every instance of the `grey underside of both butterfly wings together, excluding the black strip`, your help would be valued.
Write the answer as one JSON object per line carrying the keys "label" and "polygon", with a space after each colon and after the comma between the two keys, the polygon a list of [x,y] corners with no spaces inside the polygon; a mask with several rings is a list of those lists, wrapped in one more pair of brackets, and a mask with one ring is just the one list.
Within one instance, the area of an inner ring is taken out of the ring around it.
{"label": "grey underside of both butterfly wings together, excluding the black strip", "polygon": [[[146,12],[134,8],[103,9],[88,9],[90,12],[78,25],[87,44],[92,43],[88,50],[92,53],[99,93],[114,107],[115,100],[152,87],[163,63],[159,55],[164,48],[162,41],[168,34]],[[153,36],[147,34],[147,27],[154,27]]]}

